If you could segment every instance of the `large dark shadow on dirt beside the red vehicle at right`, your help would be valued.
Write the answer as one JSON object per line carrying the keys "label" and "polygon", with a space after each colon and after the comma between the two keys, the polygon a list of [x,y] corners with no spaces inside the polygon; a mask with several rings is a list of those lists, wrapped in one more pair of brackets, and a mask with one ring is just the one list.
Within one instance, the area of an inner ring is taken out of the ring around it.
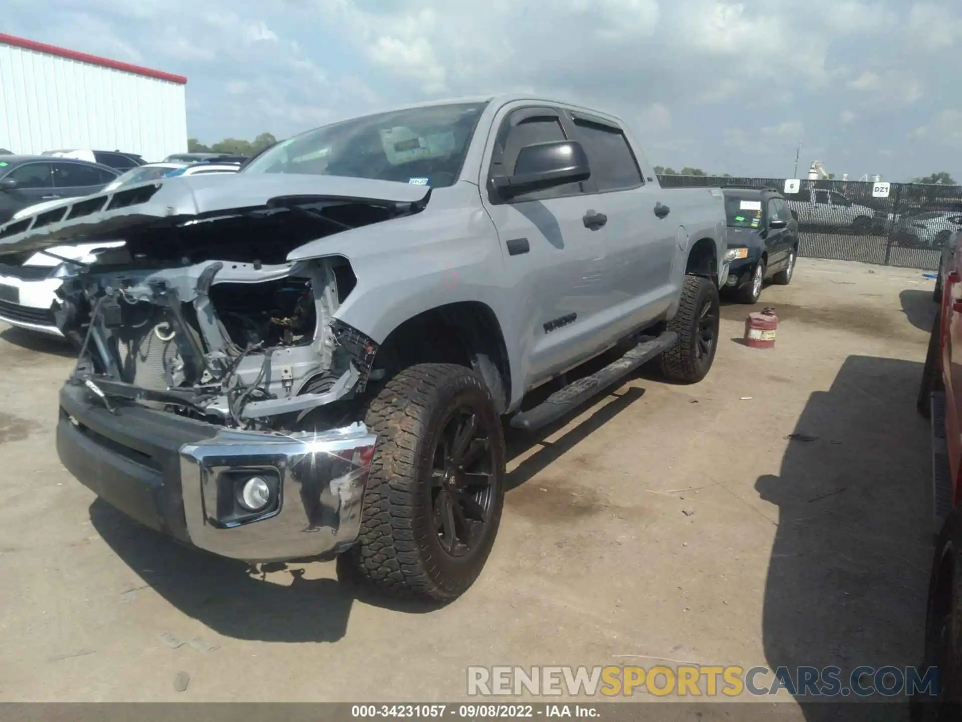
{"label": "large dark shadow on dirt beside the red vehicle at right", "polygon": [[[849,356],[806,404],[780,475],[757,480],[778,505],[763,615],[771,669],[835,665],[848,686],[859,665],[921,663],[932,554],[922,367]],[[850,719],[838,704],[853,698],[797,701],[806,719]],[[905,719],[904,708],[869,707],[873,720]]]}

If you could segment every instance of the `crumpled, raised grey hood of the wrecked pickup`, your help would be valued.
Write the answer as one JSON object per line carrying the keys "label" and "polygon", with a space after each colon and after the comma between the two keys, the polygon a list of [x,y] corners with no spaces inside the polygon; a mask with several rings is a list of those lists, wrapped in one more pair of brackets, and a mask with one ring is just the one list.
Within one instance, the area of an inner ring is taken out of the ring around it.
{"label": "crumpled, raised grey hood of the wrecked pickup", "polygon": [[0,256],[54,245],[130,239],[139,228],[286,205],[300,198],[375,205],[419,204],[427,186],[286,173],[211,173],[181,176],[76,198],[0,226]]}

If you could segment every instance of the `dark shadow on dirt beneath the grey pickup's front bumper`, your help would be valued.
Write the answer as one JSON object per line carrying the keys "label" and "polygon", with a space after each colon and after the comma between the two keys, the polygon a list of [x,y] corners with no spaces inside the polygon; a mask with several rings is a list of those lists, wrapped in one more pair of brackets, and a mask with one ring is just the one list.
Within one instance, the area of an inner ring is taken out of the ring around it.
{"label": "dark shadow on dirt beneath the grey pickup's front bumper", "polygon": [[288,565],[254,567],[189,549],[140,526],[99,499],[90,505],[89,514],[94,529],[141,579],[172,606],[223,636],[266,642],[336,642],[347,629],[355,600],[409,613],[438,608],[377,595],[340,568],[337,580],[308,580],[303,576],[304,565],[291,563],[290,585],[273,583],[263,574],[283,571]]}

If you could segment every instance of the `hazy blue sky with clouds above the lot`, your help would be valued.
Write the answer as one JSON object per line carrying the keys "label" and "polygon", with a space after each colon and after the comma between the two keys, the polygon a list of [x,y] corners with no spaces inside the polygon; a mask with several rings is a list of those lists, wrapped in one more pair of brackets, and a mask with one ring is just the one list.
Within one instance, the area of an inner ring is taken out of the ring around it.
{"label": "hazy blue sky with clouds above the lot", "polygon": [[190,135],[278,138],[532,91],[633,123],[652,163],[962,180],[958,0],[4,0],[3,30],[186,75]]}

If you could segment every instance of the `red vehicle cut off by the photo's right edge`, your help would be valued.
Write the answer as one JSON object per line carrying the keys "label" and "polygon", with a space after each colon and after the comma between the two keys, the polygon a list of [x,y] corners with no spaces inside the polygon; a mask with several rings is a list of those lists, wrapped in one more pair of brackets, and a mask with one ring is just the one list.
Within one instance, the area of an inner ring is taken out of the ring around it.
{"label": "red vehicle cut off by the photo's right edge", "polygon": [[939,668],[939,698],[913,700],[913,719],[962,719],[962,233],[940,264],[939,312],[925,355],[919,412],[932,425],[936,534],[925,617],[924,667]]}

